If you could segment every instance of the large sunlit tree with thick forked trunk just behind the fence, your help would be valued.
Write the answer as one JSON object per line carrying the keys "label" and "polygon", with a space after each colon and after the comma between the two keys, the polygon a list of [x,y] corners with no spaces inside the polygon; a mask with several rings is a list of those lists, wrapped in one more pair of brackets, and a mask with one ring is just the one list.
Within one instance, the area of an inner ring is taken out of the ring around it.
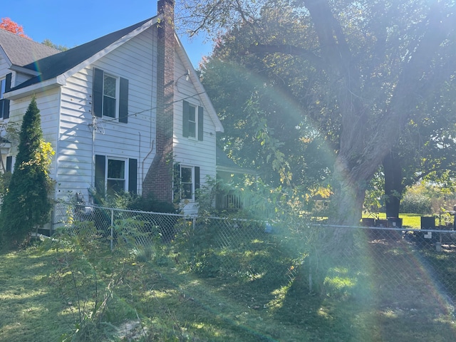
{"label": "large sunlit tree with thick forked trunk just behind the fence", "polygon": [[[455,72],[454,63],[442,63],[455,51],[455,2],[202,0],[186,4],[192,11],[187,24],[195,32],[248,27],[246,53],[268,61],[265,67],[274,68],[271,61],[281,65],[281,58],[293,56],[319,74],[302,79],[302,83],[311,82],[305,88],[310,96],[299,94],[304,88],[291,83],[283,89],[289,88],[289,94],[301,99],[303,108],[316,100],[306,114],[320,123],[321,110],[314,109],[321,107],[318,98],[327,99],[331,120],[339,125],[330,219],[338,224],[358,223],[368,181],[406,125],[421,114],[417,106],[422,98],[442,81],[434,76],[443,67],[447,76]],[[287,14],[286,21],[282,13]],[[265,29],[266,16],[277,34]]]}

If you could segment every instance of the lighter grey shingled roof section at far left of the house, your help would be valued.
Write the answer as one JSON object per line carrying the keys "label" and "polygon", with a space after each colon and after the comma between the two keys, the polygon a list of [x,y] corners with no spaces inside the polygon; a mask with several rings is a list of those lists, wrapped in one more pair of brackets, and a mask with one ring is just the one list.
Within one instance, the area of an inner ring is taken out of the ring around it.
{"label": "lighter grey shingled roof section at far left of the house", "polygon": [[27,66],[36,60],[55,55],[60,51],[0,29],[0,45],[14,66]]}

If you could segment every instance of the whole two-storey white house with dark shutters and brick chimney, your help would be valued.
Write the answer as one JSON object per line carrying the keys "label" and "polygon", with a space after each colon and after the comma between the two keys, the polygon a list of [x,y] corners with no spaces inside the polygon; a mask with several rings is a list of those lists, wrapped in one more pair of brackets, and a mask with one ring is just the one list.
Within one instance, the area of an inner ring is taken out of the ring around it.
{"label": "whole two-storey white house with dark shutters and brick chimney", "polygon": [[[171,202],[180,182],[182,209],[195,212],[223,128],[173,20],[174,0],[160,0],[157,16],[64,52],[0,30],[0,124],[21,123],[36,98],[55,199],[123,190]],[[2,135],[12,170],[17,142]]]}

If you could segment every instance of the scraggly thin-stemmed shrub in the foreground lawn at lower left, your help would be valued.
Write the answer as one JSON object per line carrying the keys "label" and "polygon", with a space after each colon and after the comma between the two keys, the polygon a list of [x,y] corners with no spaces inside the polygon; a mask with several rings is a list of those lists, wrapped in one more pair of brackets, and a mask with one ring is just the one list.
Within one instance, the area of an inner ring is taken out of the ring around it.
{"label": "scraggly thin-stemmed shrub in the foreground lawn at lower left", "polygon": [[[125,224],[120,227],[125,228]],[[115,313],[119,303],[114,291],[127,274],[134,232],[119,231],[113,252],[100,233],[94,222],[74,222],[43,245],[44,250],[61,251],[56,271],[48,281],[69,301],[76,322],[73,331],[63,334],[61,341],[112,340],[117,331],[113,322],[123,318]],[[128,312],[127,316],[133,318],[133,313]]]}

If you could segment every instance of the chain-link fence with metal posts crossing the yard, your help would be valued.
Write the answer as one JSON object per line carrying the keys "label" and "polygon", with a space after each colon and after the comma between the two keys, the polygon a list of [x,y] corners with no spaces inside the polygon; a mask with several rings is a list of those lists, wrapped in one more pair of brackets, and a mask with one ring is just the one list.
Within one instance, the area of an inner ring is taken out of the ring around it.
{"label": "chain-link fence with metal posts crossing the yard", "polygon": [[[309,291],[378,291],[414,302],[439,291],[452,303],[456,232],[384,223],[334,227],[302,219],[287,226],[68,203],[57,203],[53,210],[53,229],[77,234],[90,224],[111,249],[123,234],[130,237],[132,249],[152,249],[155,254],[166,249],[168,261],[200,276],[282,283],[300,279]],[[321,274],[324,279],[318,279]]]}

